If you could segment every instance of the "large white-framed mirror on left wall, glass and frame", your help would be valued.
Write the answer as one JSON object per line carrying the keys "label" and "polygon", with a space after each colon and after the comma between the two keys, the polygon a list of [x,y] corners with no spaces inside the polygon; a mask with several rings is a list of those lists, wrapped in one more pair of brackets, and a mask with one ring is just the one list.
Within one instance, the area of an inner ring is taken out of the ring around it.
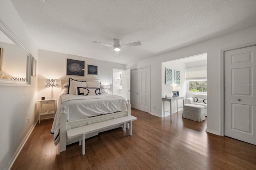
{"label": "large white-framed mirror on left wall, glass and frame", "polygon": [[0,85],[30,85],[31,54],[0,20]]}

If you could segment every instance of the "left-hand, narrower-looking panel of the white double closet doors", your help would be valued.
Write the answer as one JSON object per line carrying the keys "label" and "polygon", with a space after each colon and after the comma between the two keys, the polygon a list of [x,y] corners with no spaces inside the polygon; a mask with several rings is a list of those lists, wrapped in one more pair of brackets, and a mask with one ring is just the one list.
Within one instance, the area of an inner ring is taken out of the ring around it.
{"label": "left-hand, narrower-looking panel of the white double closet doors", "polygon": [[140,81],[138,70],[132,70],[132,103],[131,107],[140,109]]}

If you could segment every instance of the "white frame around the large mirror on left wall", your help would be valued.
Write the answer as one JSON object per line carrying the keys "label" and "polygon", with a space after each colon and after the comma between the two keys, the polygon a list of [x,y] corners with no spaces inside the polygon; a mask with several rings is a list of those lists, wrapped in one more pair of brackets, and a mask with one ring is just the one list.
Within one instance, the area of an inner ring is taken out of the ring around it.
{"label": "white frame around the large mirror on left wall", "polygon": [[27,55],[27,65],[26,65],[26,82],[8,80],[0,78],[0,86],[29,86],[31,84],[31,53],[22,44],[22,42],[16,37],[16,35],[5,25],[5,23],[0,19],[0,29],[16,44],[18,45],[24,53]]}

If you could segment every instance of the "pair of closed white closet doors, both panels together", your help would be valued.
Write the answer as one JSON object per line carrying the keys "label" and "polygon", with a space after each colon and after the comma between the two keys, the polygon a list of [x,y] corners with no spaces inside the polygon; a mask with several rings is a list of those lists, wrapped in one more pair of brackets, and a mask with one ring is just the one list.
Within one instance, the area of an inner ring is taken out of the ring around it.
{"label": "pair of closed white closet doors, both panels together", "polygon": [[150,113],[150,68],[132,70],[132,108]]}

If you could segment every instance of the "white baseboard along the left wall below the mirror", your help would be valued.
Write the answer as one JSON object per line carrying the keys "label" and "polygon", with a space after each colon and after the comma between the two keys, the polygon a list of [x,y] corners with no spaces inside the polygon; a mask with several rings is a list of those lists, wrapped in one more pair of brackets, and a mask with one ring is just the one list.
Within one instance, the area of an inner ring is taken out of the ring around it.
{"label": "white baseboard along the left wall below the mirror", "polygon": [[32,125],[32,127],[29,129],[27,135],[24,137],[23,141],[20,143],[20,146],[18,147],[18,149],[16,150],[16,152],[14,153],[14,155],[12,156],[11,160],[9,161],[8,165],[6,166],[5,170],[10,170],[12,168],[12,165],[14,164],[15,160],[17,159],[18,155],[20,154],[20,151],[22,150],[22,148],[24,147],[26,141],[28,140],[30,134],[32,133],[32,131],[34,130],[34,127],[36,126],[36,123],[38,121],[35,121],[34,124]]}

